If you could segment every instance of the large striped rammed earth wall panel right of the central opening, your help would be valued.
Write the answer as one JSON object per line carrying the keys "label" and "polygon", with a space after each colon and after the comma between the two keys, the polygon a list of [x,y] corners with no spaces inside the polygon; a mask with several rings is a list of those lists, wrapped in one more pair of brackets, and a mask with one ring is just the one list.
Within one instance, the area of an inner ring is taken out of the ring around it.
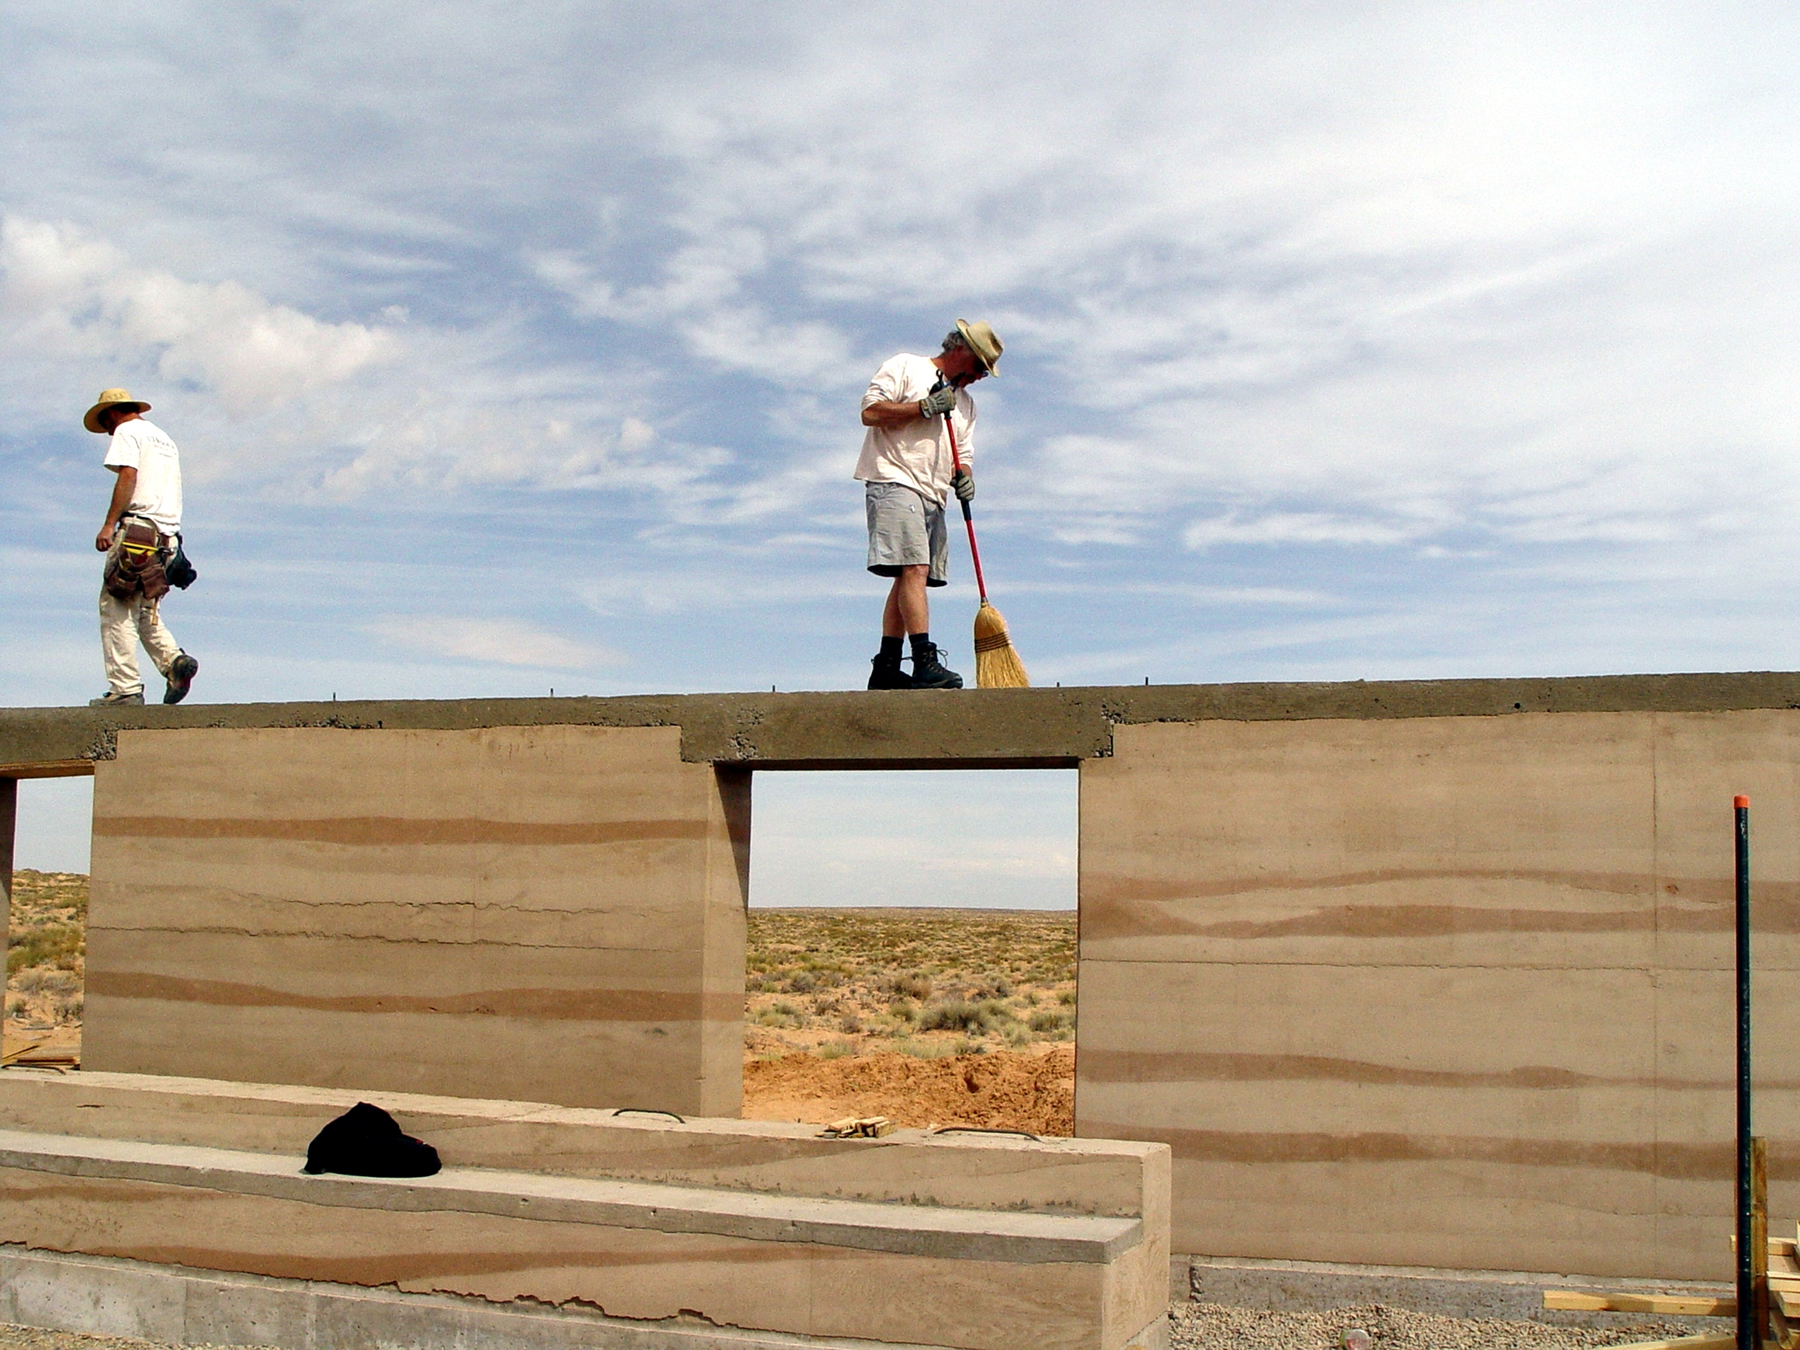
{"label": "large striped rammed earth wall panel right of the central opening", "polygon": [[1800,713],[1127,725],[1082,765],[1080,1134],[1174,1246],[1723,1278],[1732,796],[1800,1208]]}

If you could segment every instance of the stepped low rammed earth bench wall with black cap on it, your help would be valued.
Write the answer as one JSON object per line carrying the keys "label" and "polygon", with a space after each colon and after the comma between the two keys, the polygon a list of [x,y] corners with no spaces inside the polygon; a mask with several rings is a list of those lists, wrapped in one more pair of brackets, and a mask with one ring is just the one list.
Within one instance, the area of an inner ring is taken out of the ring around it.
{"label": "stepped low rammed earth bench wall with black cap on it", "polygon": [[[693,1319],[722,1341],[774,1332],[961,1350],[1154,1350],[1166,1336],[1163,1145],[923,1130],[821,1139],[772,1121],[380,1094],[439,1145],[445,1170],[302,1175],[304,1139],[353,1096],[0,1075],[0,1247],[139,1264],[14,1262],[36,1291],[32,1318],[88,1328],[90,1289],[184,1307],[216,1298],[178,1283],[171,1267],[189,1267],[185,1278],[311,1282],[234,1285],[234,1300],[261,1309],[256,1343],[284,1346],[317,1345],[290,1318],[326,1305],[371,1318],[340,1328],[349,1343],[441,1343],[430,1309],[412,1319],[418,1303],[358,1301],[347,1285],[594,1309],[614,1319],[592,1328],[599,1343],[635,1328],[635,1346],[697,1330]],[[0,1307],[7,1296],[0,1287]],[[319,1296],[328,1303],[308,1301]],[[202,1309],[211,1321],[212,1305]],[[520,1327],[518,1339],[545,1330]],[[185,1318],[180,1334],[194,1336]]]}

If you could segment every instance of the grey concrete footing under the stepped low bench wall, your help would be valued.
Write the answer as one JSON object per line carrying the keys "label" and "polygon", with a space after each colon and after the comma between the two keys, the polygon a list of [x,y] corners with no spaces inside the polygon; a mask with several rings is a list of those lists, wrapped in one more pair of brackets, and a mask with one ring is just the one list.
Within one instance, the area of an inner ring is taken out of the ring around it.
{"label": "grey concrete footing under the stepped low bench wall", "polygon": [[[315,1280],[0,1247],[0,1321],[166,1345],[279,1350],[923,1350],[716,1327],[704,1318],[607,1318],[581,1307],[495,1305]],[[1134,1337],[1166,1350],[1168,1318]]]}

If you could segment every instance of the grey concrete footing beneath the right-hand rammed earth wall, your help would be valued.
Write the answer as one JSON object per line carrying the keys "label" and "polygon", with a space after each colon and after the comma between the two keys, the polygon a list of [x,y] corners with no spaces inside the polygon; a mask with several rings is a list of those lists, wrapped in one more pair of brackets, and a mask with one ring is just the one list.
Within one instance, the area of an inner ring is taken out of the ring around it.
{"label": "grey concrete footing beneath the right-hand rammed earth wall", "polygon": [[[1602,1274],[1541,1274],[1532,1271],[1440,1271],[1426,1265],[1336,1265],[1278,1262],[1249,1256],[1175,1256],[1170,1289],[1186,1264],[1186,1289],[1202,1303],[1269,1312],[1323,1312],[1359,1303],[1384,1303],[1444,1318],[1507,1318],[1562,1327],[1615,1327],[1611,1312],[1546,1312],[1546,1289],[1616,1289],[1634,1294],[1719,1294],[1721,1283],[1681,1280],[1624,1280]],[[1696,1330],[1719,1328],[1717,1318],[1679,1318]]]}

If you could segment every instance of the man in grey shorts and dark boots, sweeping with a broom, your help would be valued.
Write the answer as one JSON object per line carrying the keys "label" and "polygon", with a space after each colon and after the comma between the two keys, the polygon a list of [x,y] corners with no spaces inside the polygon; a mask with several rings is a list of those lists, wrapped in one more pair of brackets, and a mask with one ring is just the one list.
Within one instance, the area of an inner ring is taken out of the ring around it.
{"label": "man in grey shorts and dark boots, sweeping with a broom", "polygon": [[[958,319],[943,351],[884,362],[862,394],[868,432],[855,477],[868,484],[869,571],[893,578],[871,689],[963,688],[963,677],[945,670],[943,650],[931,641],[925,589],[949,583],[947,493],[965,502],[976,495],[976,400],[967,385],[997,374],[1001,351],[992,328]],[[956,432],[961,473],[952,466],[945,421]],[[911,675],[900,670],[904,639],[913,643]]]}

